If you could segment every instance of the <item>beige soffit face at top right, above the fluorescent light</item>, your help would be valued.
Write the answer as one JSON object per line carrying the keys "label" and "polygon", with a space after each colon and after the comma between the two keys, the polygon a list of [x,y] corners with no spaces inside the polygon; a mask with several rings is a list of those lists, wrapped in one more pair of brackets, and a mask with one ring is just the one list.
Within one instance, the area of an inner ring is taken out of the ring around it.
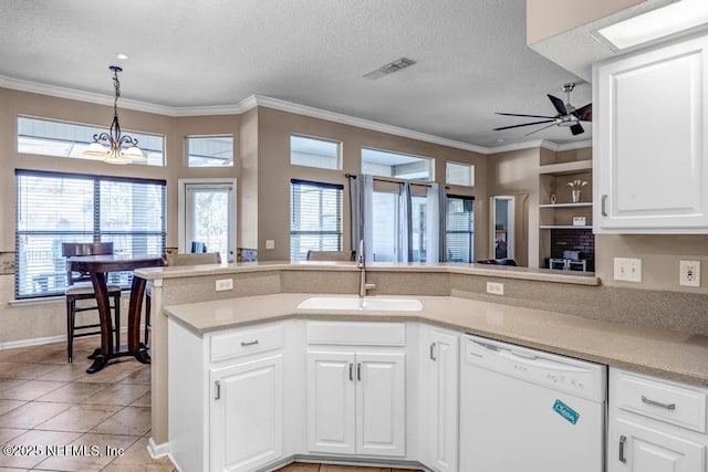
{"label": "beige soffit face at top right, above the fluorescent light", "polygon": [[527,44],[543,41],[646,0],[527,0]]}

